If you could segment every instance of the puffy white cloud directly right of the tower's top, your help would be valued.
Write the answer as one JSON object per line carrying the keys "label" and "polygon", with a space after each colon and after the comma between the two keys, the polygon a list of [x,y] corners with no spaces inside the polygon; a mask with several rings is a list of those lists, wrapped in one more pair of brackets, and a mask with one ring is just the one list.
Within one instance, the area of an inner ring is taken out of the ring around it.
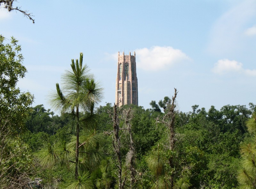
{"label": "puffy white cloud directly right of the tower's top", "polygon": [[137,67],[144,70],[162,70],[173,64],[189,60],[189,57],[179,49],[172,47],[153,46],[150,49],[136,49]]}

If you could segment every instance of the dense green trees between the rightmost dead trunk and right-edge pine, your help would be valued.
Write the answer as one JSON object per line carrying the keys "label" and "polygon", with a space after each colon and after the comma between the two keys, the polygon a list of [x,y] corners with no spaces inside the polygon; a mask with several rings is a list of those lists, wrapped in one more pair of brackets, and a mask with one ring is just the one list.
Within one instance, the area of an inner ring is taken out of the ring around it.
{"label": "dense green trees between the rightmost dead trunk and right-edge pine", "polygon": [[[177,158],[192,175],[190,187],[235,188],[239,145],[248,111],[239,105],[227,105],[221,111],[212,106],[208,112],[198,108],[195,105],[190,115],[180,113],[176,122]],[[228,129],[232,126],[236,128]]]}

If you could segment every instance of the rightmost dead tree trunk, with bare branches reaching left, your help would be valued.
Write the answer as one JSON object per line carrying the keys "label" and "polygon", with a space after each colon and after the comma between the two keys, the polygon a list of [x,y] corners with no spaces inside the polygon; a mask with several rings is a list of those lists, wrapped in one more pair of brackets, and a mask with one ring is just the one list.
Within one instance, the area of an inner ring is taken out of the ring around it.
{"label": "rightmost dead tree trunk, with bare branches reaching left", "polygon": [[[174,131],[174,121],[175,121],[175,99],[177,96],[177,89],[174,88],[174,96],[172,96],[172,103],[168,102],[166,109],[164,110],[165,115],[162,119],[160,119],[159,117],[157,118],[157,122],[158,123],[164,123],[164,125],[167,126],[167,128],[169,129],[169,149],[172,151],[174,149],[174,145],[175,145],[175,131]],[[170,168],[173,169],[174,168],[174,163],[173,163],[173,156],[171,155],[168,159],[169,161],[169,165]],[[174,173],[171,172],[170,175],[170,186],[171,189],[173,189],[173,185],[174,185]]]}

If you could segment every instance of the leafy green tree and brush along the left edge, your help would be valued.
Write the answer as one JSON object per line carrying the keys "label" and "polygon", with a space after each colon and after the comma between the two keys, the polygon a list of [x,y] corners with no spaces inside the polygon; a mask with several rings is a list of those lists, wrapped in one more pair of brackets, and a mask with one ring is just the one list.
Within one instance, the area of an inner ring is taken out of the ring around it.
{"label": "leafy green tree and brush along the left edge", "polygon": [[0,35],[0,188],[21,188],[32,172],[31,151],[18,136],[23,131],[33,95],[16,87],[27,72],[18,40]]}

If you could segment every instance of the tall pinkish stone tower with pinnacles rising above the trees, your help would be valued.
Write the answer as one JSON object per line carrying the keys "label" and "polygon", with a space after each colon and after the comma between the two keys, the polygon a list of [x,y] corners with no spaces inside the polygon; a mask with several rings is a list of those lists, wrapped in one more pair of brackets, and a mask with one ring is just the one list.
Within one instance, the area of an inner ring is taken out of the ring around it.
{"label": "tall pinkish stone tower with pinnacles rising above the trees", "polygon": [[117,77],[116,77],[116,104],[138,105],[138,79],[136,72],[135,52],[134,56],[120,55],[118,52]]}

